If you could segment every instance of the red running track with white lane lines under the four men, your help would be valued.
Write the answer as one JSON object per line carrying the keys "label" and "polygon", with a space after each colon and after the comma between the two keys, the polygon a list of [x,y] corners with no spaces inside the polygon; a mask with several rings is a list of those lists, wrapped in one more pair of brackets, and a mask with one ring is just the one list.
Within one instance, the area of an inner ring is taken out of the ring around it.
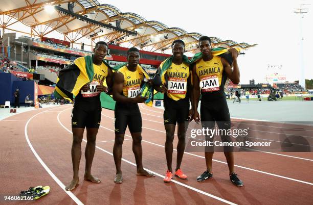
{"label": "red running track with white lane lines under the four men", "polygon": [[[135,157],[127,130],[123,144],[123,184],[115,184],[114,112],[102,111],[92,172],[102,181],[83,181],[84,157],[80,163],[80,184],[72,192],[64,185],[72,178],[71,108],[60,106],[20,113],[0,121],[0,203],[4,196],[18,195],[30,186],[49,185],[49,195],[38,199],[42,204],[312,204],[312,152],[236,152],[236,172],[244,182],[235,187],[228,176],[223,153],[216,152],[214,177],[199,183],[195,178],[205,170],[204,153],[186,152],[182,169],[188,180],[173,178],[163,183],[166,172],[163,111],[141,106],[143,118],[143,164],[157,176],[136,175]],[[249,122],[247,122],[249,123]],[[277,133],[279,124],[253,126],[254,135]],[[296,129],[295,126],[293,126]],[[310,127],[307,128],[309,130]],[[313,130],[311,128],[311,130]],[[308,131],[310,133],[311,131]],[[313,132],[311,132],[313,136]],[[85,136],[84,136],[84,139]],[[174,147],[177,137],[174,140]],[[84,152],[85,141],[82,142]],[[84,153],[82,153],[84,156]],[[173,168],[176,151],[173,152]],[[12,201],[11,201],[12,202]],[[32,203],[31,201],[14,201]]]}

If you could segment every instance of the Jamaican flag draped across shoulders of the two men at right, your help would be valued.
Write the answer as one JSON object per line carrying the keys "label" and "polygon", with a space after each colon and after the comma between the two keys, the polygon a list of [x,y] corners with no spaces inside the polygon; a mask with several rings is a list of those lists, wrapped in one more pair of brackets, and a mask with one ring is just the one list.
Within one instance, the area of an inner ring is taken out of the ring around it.
{"label": "Jamaican flag draped across shoulders of the two men at right", "polygon": [[[217,48],[212,48],[211,51],[212,51],[212,55],[213,56],[220,56],[220,57],[225,58],[230,65],[233,63],[232,54],[228,53],[228,49],[227,48],[217,47]],[[187,64],[193,64],[193,63],[197,62],[200,59],[202,59],[202,53],[195,54],[190,60],[188,59],[187,56],[185,56],[185,55],[183,56],[183,61],[185,63],[187,63]],[[154,85],[161,86],[164,83],[166,83],[165,73],[166,73],[166,70],[172,64],[172,61],[173,61],[173,56],[169,57],[168,59],[166,59],[165,61],[163,61],[161,63],[161,65],[160,65],[160,67],[159,67],[159,69],[157,71],[157,74],[155,75],[155,77],[153,79],[153,84]],[[191,78],[192,78],[192,76],[191,76]]]}

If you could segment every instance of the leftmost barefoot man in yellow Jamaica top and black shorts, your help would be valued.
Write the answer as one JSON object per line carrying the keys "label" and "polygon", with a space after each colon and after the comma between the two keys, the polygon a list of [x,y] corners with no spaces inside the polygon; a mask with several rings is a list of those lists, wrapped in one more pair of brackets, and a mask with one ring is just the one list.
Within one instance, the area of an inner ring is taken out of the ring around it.
{"label": "leftmost barefoot man in yellow Jamaica top and black shorts", "polygon": [[[84,57],[77,58],[75,65],[83,69],[93,69],[94,77],[92,82],[85,84],[79,94],[75,97],[74,109],[72,112],[72,162],[73,162],[73,180],[65,187],[65,190],[73,190],[79,182],[78,169],[81,158],[81,141],[83,139],[84,129],[87,130],[87,145],[85,149],[86,167],[84,180],[93,183],[100,183],[101,181],[91,174],[91,166],[96,148],[96,135],[98,133],[100,119],[101,119],[101,103],[100,93],[108,92],[108,88],[103,86],[103,82],[112,86],[113,72],[104,62],[108,45],[99,41],[96,43],[94,55],[92,57],[92,68],[86,68]],[[83,70],[82,69],[82,70]]]}

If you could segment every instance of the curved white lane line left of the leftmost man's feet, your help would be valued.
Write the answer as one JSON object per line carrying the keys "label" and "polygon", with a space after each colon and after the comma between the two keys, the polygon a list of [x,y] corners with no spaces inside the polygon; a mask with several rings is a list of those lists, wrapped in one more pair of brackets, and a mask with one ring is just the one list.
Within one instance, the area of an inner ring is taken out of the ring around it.
{"label": "curved white lane line left of the leftmost man's feet", "polygon": [[[54,109],[54,108],[52,108]],[[52,110],[51,109],[51,110]],[[25,138],[26,141],[29,145],[29,147],[31,148],[32,152],[34,153],[35,157],[37,158],[37,160],[39,161],[39,163],[42,165],[42,167],[44,169],[46,169],[46,171],[50,174],[50,176],[53,178],[53,180],[61,187],[61,189],[68,194],[77,204],[83,204],[72,192],[70,191],[65,191],[65,185],[58,179],[58,177],[49,169],[49,167],[41,160],[41,158],[39,157],[39,155],[37,154],[36,150],[34,149],[32,143],[30,142],[29,138],[28,138],[28,134],[27,134],[27,126],[29,124],[29,122],[37,115],[44,113],[46,111],[42,111],[40,113],[35,114],[34,116],[32,116],[26,123],[25,125]]]}

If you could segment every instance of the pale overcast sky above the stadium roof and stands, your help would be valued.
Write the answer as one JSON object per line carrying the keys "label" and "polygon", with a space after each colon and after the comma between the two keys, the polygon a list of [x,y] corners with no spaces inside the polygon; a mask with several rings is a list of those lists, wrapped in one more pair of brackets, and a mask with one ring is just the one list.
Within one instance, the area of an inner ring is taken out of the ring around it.
{"label": "pale overcast sky above the stadium roof and stands", "polygon": [[[288,81],[300,76],[300,16],[294,8],[300,4],[312,4],[311,0],[301,1],[124,1],[98,0],[103,4],[116,6],[122,12],[137,13],[147,20],[158,20],[169,28],[179,27],[188,33],[198,32],[222,40],[234,40],[258,44],[244,56],[239,57],[240,83],[265,82],[267,65],[281,66],[278,73],[285,74]],[[309,13],[303,21],[303,59],[305,78],[313,78],[311,46],[313,45],[312,5],[305,5]],[[277,70],[276,70],[277,71]]]}

